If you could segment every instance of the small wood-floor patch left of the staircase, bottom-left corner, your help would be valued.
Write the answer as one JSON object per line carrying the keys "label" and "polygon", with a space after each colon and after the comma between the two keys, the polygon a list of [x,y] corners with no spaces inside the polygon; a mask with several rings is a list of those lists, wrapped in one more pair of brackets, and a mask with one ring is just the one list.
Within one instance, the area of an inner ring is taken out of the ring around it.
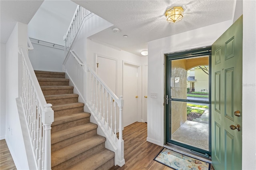
{"label": "small wood-floor patch left of the staircase, bottom-left corner", "polygon": [[5,139],[0,140],[0,169],[1,170],[16,170],[12,155],[8,149]]}

